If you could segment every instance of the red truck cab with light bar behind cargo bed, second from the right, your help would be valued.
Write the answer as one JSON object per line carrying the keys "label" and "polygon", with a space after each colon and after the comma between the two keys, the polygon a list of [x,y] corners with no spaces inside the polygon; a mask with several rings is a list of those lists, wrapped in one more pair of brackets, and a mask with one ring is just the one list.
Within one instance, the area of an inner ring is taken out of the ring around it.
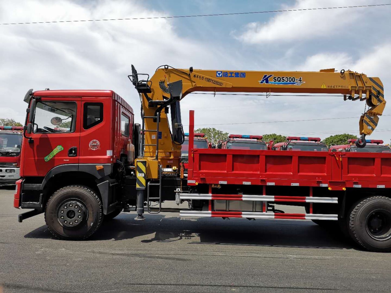
{"label": "red truck cab with light bar behind cargo bed, second from the right", "polygon": [[275,150],[301,150],[312,152],[327,152],[328,148],[325,143],[321,142],[320,138],[287,136],[287,141],[276,143]]}

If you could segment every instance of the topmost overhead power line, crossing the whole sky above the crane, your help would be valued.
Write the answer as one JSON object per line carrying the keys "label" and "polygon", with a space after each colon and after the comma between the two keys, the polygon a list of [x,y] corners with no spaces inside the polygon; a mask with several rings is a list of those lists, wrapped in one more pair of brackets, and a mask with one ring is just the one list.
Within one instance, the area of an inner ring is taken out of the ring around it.
{"label": "topmost overhead power line, crossing the whole sky above the crane", "polygon": [[283,9],[270,11],[252,11],[252,12],[237,12],[237,13],[214,13],[214,14],[196,14],[196,15],[178,15],[178,16],[155,16],[155,17],[135,17],[135,18],[108,18],[108,19],[91,19],[91,20],[56,20],[56,21],[31,21],[31,22],[12,22],[0,23],[0,25],[23,25],[23,24],[38,24],[38,23],[70,23],[70,22],[91,22],[91,21],[113,21],[113,20],[151,20],[164,18],[188,18],[188,17],[206,17],[206,16],[227,16],[227,15],[242,15],[242,14],[258,14],[258,13],[280,13],[291,11],[311,11],[323,9],[346,9],[346,8],[361,8],[361,7],[379,7],[389,6],[389,4],[372,4],[372,5],[355,5],[355,6],[338,6],[338,7],[317,7],[317,8],[302,8],[302,9]]}

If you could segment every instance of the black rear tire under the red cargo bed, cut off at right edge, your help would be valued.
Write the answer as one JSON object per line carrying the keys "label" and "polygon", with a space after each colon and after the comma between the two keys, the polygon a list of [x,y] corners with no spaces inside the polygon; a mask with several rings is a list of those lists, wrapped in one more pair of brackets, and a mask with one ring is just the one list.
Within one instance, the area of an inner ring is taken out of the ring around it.
{"label": "black rear tire under the red cargo bed, cut off at right edge", "polygon": [[391,252],[391,198],[369,197],[353,206],[349,234],[367,250]]}

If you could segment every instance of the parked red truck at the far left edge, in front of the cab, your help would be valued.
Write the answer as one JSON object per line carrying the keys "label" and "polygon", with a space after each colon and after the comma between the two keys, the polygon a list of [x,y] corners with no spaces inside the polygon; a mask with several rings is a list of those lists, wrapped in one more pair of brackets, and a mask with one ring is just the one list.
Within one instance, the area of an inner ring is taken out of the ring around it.
{"label": "parked red truck at the far left edge, in front of the cab", "polygon": [[0,126],[0,184],[15,184],[20,178],[22,126]]}

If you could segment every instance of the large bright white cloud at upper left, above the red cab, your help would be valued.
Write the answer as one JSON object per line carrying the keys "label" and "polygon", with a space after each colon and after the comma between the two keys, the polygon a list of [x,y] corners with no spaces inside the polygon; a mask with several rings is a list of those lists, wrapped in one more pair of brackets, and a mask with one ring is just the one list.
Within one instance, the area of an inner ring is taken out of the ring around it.
{"label": "large bright white cloud at upper left, above the red cab", "polygon": [[[125,0],[0,2],[2,23],[166,14]],[[21,122],[26,107],[22,99],[29,88],[113,89],[132,105],[138,117],[138,94],[127,79],[131,64],[139,73],[149,74],[163,64],[179,68],[232,64],[232,58],[217,46],[179,37],[167,19],[2,25],[0,36],[2,107],[14,110],[0,115],[9,113]]]}

